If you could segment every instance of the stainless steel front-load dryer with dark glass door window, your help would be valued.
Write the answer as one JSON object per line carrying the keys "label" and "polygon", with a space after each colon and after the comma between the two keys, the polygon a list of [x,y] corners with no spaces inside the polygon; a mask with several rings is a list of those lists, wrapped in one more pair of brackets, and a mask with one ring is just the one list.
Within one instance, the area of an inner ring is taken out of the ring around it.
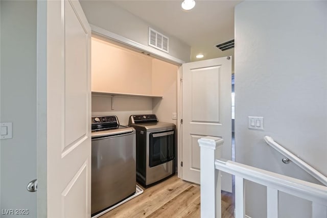
{"label": "stainless steel front-load dryer with dark glass door window", "polygon": [[148,186],[176,172],[176,126],[155,114],[131,115],[136,130],[136,180]]}

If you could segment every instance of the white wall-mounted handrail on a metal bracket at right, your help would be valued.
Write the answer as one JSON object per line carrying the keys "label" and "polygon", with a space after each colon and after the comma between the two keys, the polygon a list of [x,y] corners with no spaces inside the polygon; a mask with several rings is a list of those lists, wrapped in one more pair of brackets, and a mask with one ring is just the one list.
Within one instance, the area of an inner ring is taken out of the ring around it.
{"label": "white wall-mounted handrail on a metal bracket at right", "polygon": [[281,144],[278,144],[276,141],[274,141],[273,138],[270,136],[264,137],[266,143],[271,146],[273,149],[287,157],[287,159],[294,162],[296,165],[304,169],[307,173],[309,173],[311,176],[316,178],[319,182],[327,186],[327,177],[325,177],[323,174],[321,174],[317,169],[310,166],[308,163],[300,159],[298,156],[294,155],[292,152],[285,149]]}

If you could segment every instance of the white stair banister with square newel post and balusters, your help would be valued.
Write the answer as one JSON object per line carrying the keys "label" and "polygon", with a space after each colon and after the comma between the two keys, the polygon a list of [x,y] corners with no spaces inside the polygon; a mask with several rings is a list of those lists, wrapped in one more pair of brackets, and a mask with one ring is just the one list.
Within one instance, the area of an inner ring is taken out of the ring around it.
{"label": "white stair banister with square newel post and balusters", "polygon": [[244,179],[267,186],[267,218],[278,217],[278,191],[312,202],[312,218],[327,218],[327,187],[220,158],[223,139],[203,137],[200,144],[201,217],[221,217],[220,172],[235,175],[235,215],[245,217]]}

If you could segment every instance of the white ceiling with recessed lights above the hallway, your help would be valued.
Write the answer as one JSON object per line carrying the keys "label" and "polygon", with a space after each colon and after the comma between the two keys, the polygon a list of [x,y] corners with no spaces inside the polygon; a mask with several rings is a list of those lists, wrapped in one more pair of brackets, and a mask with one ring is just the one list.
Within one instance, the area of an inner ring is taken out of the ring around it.
{"label": "white ceiling with recessed lights above the hallway", "polygon": [[176,0],[112,2],[189,44],[192,61],[199,53],[203,59],[233,55],[233,49],[221,52],[215,45],[233,39],[234,7],[242,1],[195,1],[190,11],[181,9],[182,1]]}

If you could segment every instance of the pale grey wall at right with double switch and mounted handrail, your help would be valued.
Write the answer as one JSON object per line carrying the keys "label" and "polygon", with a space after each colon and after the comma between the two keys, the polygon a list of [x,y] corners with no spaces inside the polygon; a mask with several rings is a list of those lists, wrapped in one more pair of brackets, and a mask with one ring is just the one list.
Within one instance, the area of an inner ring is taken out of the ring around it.
{"label": "pale grey wall at right with double switch and mounted handrail", "polygon": [[[317,182],[282,163],[263,140],[269,135],[327,176],[326,11],[325,1],[245,1],[236,7],[237,162]],[[249,130],[248,116],[263,116],[265,130]],[[265,217],[266,189],[246,189],[246,214]],[[310,217],[308,202],[279,199],[280,217]]]}

